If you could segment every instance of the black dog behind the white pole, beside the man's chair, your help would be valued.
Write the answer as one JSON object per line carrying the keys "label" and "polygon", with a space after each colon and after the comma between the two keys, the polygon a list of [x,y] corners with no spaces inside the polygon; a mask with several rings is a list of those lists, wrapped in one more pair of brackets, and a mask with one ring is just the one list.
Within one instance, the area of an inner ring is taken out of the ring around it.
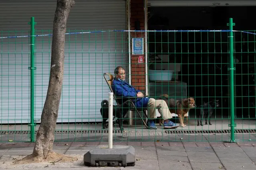
{"label": "black dog behind the white pole, beside the man's chair", "polygon": [[[113,105],[113,115],[118,118],[118,125],[120,130],[123,130],[123,121],[121,119],[123,116],[129,111],[131,108],[133,108],[133,105],[131,102],[125,102],[122,105]],[[109,125],[107,125],[107,119],[109,118],[109,101],[103,100],[101,101],[101,116],[103,118],[103,128],[107,128]],[[121,126],[122,123],[122,126]]]}

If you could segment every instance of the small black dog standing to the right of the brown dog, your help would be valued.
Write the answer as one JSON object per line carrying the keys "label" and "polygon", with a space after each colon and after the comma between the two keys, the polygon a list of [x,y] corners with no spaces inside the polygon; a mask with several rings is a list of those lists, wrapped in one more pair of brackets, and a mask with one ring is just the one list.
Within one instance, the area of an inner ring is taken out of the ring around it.
{"label": "small black dog standing to the right of the brown dog", "polygon": [[208,115],[209,115],[209,125],[212,125],[211,117],[212,117],[212,113],[216,107],[219,107],[219,100],[213,100],[213,101],[204,103],[203,105],[197,107],[196,116],[198,118],[198,126],[199,126],[199,120],[200,120],[200,125],[204,126],[204,125],[202,125],[202,118],[204,118],[204,117],[206,119],[206,125],[207,125]]}

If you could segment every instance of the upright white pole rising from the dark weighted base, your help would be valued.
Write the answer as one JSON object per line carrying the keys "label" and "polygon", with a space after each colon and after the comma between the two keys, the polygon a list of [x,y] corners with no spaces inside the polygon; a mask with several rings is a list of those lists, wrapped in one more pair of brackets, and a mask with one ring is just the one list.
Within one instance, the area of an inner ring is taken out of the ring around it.
{"label": "upright white pole rising from the dark weighted base", "polygon": [[109,148],[113,148],[113,93],[109,92]]}

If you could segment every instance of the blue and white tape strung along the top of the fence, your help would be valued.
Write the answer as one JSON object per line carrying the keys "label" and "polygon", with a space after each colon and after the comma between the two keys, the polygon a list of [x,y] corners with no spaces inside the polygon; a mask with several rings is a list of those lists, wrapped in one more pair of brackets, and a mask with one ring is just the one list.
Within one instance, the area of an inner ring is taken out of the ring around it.
{"label": "blue and white tape strung along the top of the fence", "polygon": [[[230,30],[109,30],[109,31],[71,32],[71,33],[65,33],[65,35],[91,34],[91,33],[103,33],[103,32],[230,32]],[[245,31],[233,30],[233,32],[242,32],[242,33],[246,33],[246,34],[256,35],[256,33],[245,32]],[[42,36],[52,36],[52,34],[35,35],[34,37],[42,37]],[[24,38],[24,37],[31,37],[31,36],[8,36],[8,37],[0,37],[0,39],[4,39],[4,38]]]}

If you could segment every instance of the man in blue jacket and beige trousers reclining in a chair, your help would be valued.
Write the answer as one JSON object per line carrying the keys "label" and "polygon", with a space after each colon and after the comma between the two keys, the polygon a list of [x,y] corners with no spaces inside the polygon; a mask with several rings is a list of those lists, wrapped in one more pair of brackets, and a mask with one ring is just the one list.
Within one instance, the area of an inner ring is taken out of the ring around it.
{"label": "man in blue jacket and beige trousers reclining in a chair", "polygon": [[[136,108],[148,108],[149,110],[148,126],[150,129],[157,129],[154,123],[154,119],[157,118],[156,112],[155,112],[156,106],[161,106],[161,109],[159,109],[159,112],[164,120],[164,123],[163,123],[164,128],[179,127],[178,124],[175,124],[169,120],[172,118],[172,115],[165,101],[143,97],[143,93],[141,93],[139,90],[136,90],[134,87],[129,85],[129,83],[125,82],[124,80],[125,80],[125,70],[123,69],[123,67],[119,66],[115,69],[115,78],[111,85],[113,92],[115,93],[116,97],[141,97],[138,99],[134,99],[133,103]],[[125,102],[126,100],[128,99],[123,99],[123,102]]]}

